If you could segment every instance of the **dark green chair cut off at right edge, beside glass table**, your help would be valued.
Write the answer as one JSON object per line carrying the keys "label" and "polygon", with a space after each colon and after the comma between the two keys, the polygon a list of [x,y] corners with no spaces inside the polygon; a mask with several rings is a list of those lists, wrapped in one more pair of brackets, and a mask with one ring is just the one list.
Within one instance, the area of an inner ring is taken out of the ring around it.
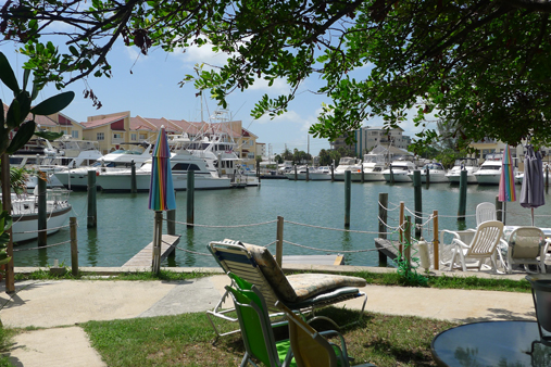
{"label": "dark green chair cut off at right edge, beside glass table", "polygon": [[551,345],[551,275],[529,275],[526,280],[531,284],[541,342]]}

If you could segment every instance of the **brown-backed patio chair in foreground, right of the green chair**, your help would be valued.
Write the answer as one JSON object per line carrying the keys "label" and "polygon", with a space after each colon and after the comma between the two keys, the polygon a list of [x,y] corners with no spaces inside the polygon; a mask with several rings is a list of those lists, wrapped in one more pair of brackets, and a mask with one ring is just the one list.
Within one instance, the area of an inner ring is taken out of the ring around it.
{"label": "brown-backed patio chair in foreground, right of the green chair", "polygon": [[[285,313],[289,320],[289,341],[297,367],[350,367],[347,343],[336,331],[317,332],[302,318],[280,302],[276,306]],[[338,337],[340,345],[329,342],[324,337]],[[363,364],[356,367],[375,367]]]}

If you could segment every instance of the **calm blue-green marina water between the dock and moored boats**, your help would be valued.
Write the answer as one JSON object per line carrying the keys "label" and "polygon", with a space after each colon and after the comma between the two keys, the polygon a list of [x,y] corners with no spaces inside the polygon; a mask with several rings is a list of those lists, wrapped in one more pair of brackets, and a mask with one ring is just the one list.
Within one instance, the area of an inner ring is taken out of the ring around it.
{"label": "calm blue-green marina water between the dock and moored boats", "polygon": [[[521,187],[516,186],[517,197]],[[379,192],[388,193],[389,210],[400,201],[413,211],[414,191],[411,184],[387,185],[385,182],[352,184],[350,230],[377,231],[377,201]],[[425,217],[434,210],[439,212],[440,229],[458,229],[459,187],[448,184],[434,184],[429,189],[423,187],[423,212]],[[497,186],[481,187],[471,185],[467,189],[466,222],[467,228],[475,226],[475,207],[484,201],[496,201]],[[176,220],[186,222],[186,192],[176,194]],[[546,194],[551,201],[551,194]],[[148,194],[107,194],[98,192],[98,228],[86,228],[86,192],[73,192],[70,198],[78,227],[78,250],[80,266],[121,266],[153,238],[154,213],[148,210]],[[237,226],[263,224],[245,228],[196,227],[187,229],[177,224],[176,232],[181,235],[179,248],[199,254],[177,251],[168,266],[216,266],[208,254],[206,243],[225,238],[266,245],[275,241],[277,216],[285,220],[311,226],[343,229],[345,223],[345,184],[330,181],[289,181],[263,180],[260,188],[241,190],[196,191],[195,222],[197,225]],[[549,204],[535,210],[536,226],[551,227]],[[518,202],[506,203],[506,224],[530,225],[530,210],[523,208]],[[398,226],[398,210],[390,211],[388,224]],[[425,223],[426,219],[423,219]],[[164,224],[163,232],[166,232]],[[424,236],[431,233],[424,230]],[[284,239],[297,244],[339,251],[374,249],[374,233],[354,233],[285,223]],[[393,236],[397,238],[397,235]],[[48,243],[68,240],[68,228],[48,237]],[[35,248],[29,242],[16,249]],[[275,254],[275,245],[271,251]],[[312,250],[284,243],[285,255],[323,254]],[[15,266],[47,266],[58,258],[60,263],[71,265],[70,244],[47,250],[18,251],[15,253]],[[346,264],[376,266],[376,251],[346,254]]]}

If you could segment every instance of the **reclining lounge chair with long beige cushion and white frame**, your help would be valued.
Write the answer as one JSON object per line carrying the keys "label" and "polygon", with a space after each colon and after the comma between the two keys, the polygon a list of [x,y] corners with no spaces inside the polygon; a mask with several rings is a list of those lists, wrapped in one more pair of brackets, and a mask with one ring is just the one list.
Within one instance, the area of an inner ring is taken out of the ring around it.
{"label": "reclining lounge chair with long beige cushion and white frame", "polygon": [[[256,286],[271,312],[279,313],[275,303],[280,301],[292,311],[312,312],[313,318],[310,321],[323,318],[339,328],[331,319],[315,316],[315,309],[356,298],[364,298],[360,317],[365,308],[367,295],[358,289],[366,284],[365,279],[327,274],[297,274],[286,277],[266,248],[243,244],[239,241],[214,241],[208,244],[208,249],[224,271],[233,273]],[[208,312],[209,319],[218,336],[223,334],[218,333],[211,316],[235,321],[225,316],[228,311],[222,309],[226,295],[222,296],[212,312]]]}

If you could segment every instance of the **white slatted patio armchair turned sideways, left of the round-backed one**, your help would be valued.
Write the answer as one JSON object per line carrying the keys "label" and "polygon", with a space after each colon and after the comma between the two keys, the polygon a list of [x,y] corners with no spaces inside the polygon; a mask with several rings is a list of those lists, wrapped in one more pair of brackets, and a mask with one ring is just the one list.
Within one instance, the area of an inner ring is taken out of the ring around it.
{"label": "white slatted patio armchair turned sideways, left of the round-backed one", "polygon": [[[493,271],[498,271],[496,254],[498,244],[502,241],[503,236],[503,223],[499,220],[487,220],[481,223],[474,232],[473,239],[469,243],[465,243],[459,236],[456,236],[452,242],[452,255],[450,261],[450,270],[453,269],[456,258],[459,255],[458,266],[461,265],[463,271],[466,271],[468,267],[477,268],[481,270],[485,261],[490,258],[491,268]],[[467,265],[466,261],[474,258],[476,262],[474,265]]]}

